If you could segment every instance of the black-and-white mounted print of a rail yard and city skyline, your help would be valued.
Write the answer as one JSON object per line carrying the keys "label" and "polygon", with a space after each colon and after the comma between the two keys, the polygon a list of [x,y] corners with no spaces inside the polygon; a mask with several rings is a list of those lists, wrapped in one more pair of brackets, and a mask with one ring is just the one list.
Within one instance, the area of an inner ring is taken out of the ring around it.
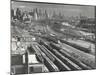
{"label": "black-and-white mounted print of a rail yard and city skyline", "polygon": [[96,6],[11,1],[11,75],[96,69]]}

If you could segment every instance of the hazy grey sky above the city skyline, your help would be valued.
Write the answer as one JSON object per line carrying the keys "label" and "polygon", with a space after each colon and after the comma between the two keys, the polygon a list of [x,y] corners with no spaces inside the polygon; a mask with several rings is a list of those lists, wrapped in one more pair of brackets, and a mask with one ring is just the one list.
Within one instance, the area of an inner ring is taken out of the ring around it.
{"label": "hazy grey sky above the city skyline", "polygon": [[58,5],[58,4],[43,4],[43,3],[26,3],[26,2],[12,2],[12,8],[21,8],[23,10],[31,10],[32,8],[39,8],[47,10],[52,14],[61,12],[65,16],[79,16],[80,14],[87,17],[95,17],[94,6],[79,6],[79,5]]}

